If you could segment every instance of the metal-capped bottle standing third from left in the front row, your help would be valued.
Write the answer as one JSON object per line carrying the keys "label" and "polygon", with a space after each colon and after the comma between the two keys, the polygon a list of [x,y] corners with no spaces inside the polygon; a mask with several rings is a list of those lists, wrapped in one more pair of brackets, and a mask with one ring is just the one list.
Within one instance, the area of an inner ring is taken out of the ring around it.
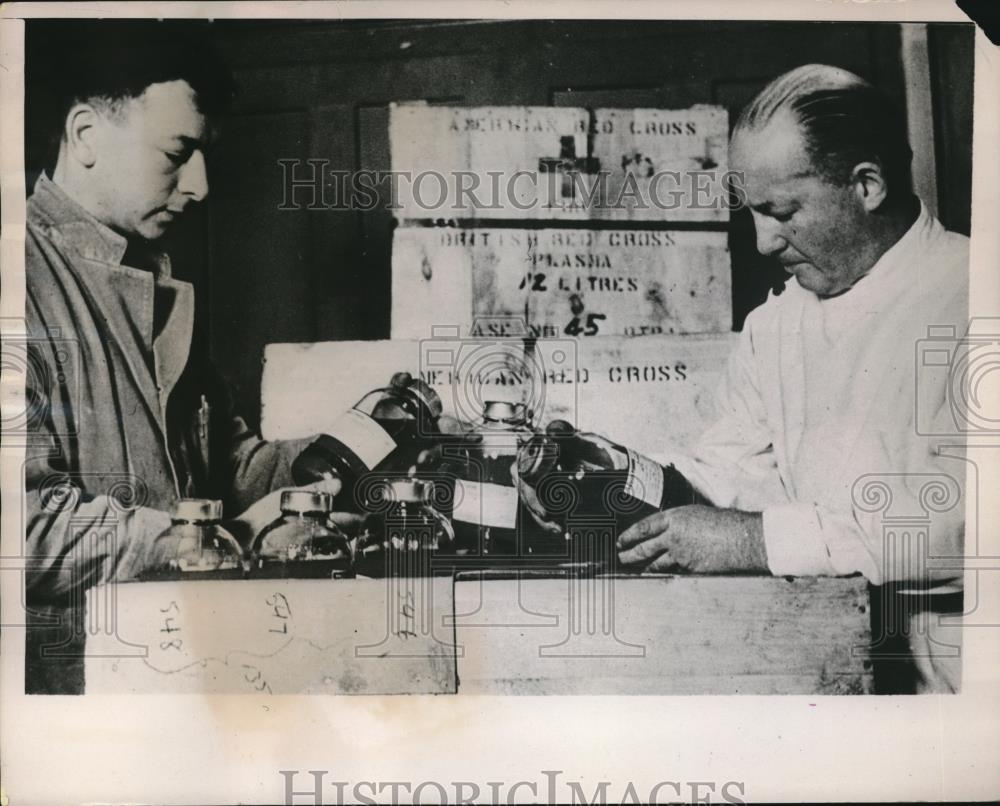
{"label": "metal-capped bottle standing third from left in the front row", "polygon": [[433,490],[433,484],[415,478],[386,478],[366,485],[368,515],[354,551],[359,576],[416,577],[452,570],[432,563],[455,544],[451,523],[432,503]]}

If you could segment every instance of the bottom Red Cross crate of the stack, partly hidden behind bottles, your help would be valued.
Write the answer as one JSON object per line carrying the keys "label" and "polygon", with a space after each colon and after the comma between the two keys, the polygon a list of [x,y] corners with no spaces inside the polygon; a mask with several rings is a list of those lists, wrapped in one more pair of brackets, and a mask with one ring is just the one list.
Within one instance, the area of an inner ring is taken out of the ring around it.
{"label": "bottom Red Cross crate of the stack, partly hidden behind bottles", "polygon": [[[482,330],[507,320],[480,322]],[[522,324],[523,327],[523,324]],[[263,434],[306,437],[392,373],[420,374],[445,412],[469,420],[482,400],[524,401],[651,455],[683,449],[713,420],[712,395],[738,336],[510,338],[272,344],[265,351]],[[622,417],[627,406],[628,417]]]}

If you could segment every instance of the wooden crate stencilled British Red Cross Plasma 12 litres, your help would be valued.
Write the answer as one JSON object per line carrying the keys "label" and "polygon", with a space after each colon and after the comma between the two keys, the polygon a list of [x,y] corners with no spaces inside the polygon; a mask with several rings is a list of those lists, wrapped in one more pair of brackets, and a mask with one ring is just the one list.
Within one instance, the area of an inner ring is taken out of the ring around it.
{"label": "wooden crate stencilled British Red Cross Plasma 12 litres", "polygon": [[727,332],[730,274],[725,232],[404,227],[392,336],[497,316],[540,337]]}

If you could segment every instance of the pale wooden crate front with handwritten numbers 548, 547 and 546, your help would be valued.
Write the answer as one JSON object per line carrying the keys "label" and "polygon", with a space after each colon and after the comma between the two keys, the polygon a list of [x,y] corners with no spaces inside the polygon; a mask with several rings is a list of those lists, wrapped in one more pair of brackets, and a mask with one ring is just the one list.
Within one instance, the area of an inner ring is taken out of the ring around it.
{"label": "pale wooden crate front with handwritten numbers 548, 547 and 546", "polygon": [[113,587],[88,593],[87,693],[455,691],[448,578]]}

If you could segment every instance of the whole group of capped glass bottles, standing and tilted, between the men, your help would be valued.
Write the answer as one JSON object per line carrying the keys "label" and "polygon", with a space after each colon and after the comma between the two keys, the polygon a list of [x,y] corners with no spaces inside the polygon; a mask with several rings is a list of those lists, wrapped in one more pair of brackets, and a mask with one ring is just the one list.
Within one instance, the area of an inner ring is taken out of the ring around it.
{"label": "whole group of capped glass bottles, standing and tilted, between the men", "polygon": [[[339,479],[336,498],[286,492],[282,517],[246,558],[218,502],[181,501],[147,576],[427,575],[520,560],[612,570],[620,531],[694,500],[672,466],[562,420],[539,432],[523,404],[487,402],[476,423],[449,433],[441,411],[430,387],[397,373],[293,464],[302,485]],[[333,510],[364,513],[357,537],[329,520]]]}

